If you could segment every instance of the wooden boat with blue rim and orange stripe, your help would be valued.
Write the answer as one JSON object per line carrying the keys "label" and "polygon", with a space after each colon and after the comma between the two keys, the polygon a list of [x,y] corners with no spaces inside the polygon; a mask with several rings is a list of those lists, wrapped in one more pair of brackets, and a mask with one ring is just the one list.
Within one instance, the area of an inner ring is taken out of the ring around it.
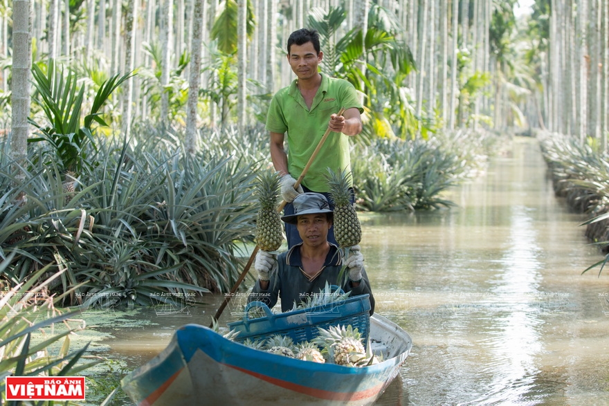
{"label": "wooden boat with blue rim and orange stripe", "polygon": [[381,315],[370,338],[383,360],[369,367],[296,360],[187,324],[156,358],[122,380],[136,405],[370,405],[398,375],[410,335]]}

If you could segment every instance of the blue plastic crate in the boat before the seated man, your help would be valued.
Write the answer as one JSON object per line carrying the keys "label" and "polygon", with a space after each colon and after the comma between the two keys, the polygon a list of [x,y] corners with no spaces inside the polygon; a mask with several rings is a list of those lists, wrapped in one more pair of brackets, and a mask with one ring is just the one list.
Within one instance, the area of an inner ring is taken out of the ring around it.
{"label": "blue plastic crate in the boat before the seated man", "polygon": [[[260,306],[266,317],[251,319],[248,317],[250,308]],[[263,302],[250,302],[245,308],[242,321],[228,323],[228,328],[239,331],[235,338],[243,342],[247,338],[255,341],[266,340],[271,335],[289,335],[295,344],[309,341],[319,335],[318,327],[328,329],[329,326],[347,327],[349,324],[361,333],[365,344],[370,335],[370,295],[348,297],[338,302],[322,306],[302,308],[295,311],[275,314]]]}

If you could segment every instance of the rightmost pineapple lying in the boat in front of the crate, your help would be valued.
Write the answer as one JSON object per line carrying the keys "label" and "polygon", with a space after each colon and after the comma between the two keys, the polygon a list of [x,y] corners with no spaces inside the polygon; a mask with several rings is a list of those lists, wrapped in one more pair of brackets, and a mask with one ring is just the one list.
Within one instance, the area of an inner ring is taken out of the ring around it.
{"label": "rightmost pineapple lying in the boat in front of the crate", "polygon": [[361,333],[349,324],[345,326],[329,326],[329,329],[318,328],[319,335],[313,338],[313,344],[321,347],[322,353],[327,354],[329,362],[345,367],[361,367],[366,365],[367,354],[361,342]]}

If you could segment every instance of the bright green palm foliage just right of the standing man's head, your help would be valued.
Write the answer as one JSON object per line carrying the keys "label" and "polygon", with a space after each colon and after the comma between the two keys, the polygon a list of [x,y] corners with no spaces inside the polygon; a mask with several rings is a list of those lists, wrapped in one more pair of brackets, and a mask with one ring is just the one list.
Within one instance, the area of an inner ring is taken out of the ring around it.
{"label": "bright green palm foliage just right of the standing man's head", "polygon": [[[366,139],[376,135],[397,134],[401,138],[412,135],[419,124],[404,83],[415,61],[408,45],[398,39],[403,28],[392,13],[373,4],[365,37],[361,28],[354,28],[334,41],[346,16],[342,6],[327,11],[313,8],[309,12],[309,26],[320,33],[322,71],[348,80],[363,93],[364,107],[370,116],[364,122]],[[385,125],[385,120],[391,124]],[[381,133],[377,132],[379,128]]]}

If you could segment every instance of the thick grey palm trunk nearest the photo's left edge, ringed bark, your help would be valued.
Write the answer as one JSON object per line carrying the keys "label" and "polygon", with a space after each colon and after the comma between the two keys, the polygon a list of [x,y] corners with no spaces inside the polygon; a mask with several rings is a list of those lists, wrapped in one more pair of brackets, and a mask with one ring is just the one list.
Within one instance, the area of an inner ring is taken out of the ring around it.
{"label": "thick grey palm trunk nearest the photo's left edge, ringed bark", "polygon": [[19,167],[26,167],[28,154],[28,116],[30,115],[30,68],[32,40],[30,37],[30,0],[12,2],[12,138],[10,158],[15,162],[13,176],[20,182],[25,178]]}

